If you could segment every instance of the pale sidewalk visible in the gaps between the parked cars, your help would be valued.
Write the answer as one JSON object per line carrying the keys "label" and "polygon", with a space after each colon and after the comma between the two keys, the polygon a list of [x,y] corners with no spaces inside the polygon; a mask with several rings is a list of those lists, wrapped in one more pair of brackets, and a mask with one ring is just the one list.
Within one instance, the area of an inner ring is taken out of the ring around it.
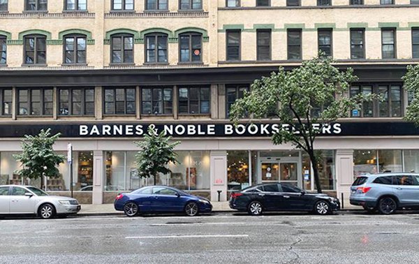
{"label": "pale sidewalk visible in the gaps between the parked cars", "polygon": [[[211,202],[212,212],[237,212],[228,206],[228,202]],[[362,207],[345,205],[342,210],[362,210]],[[82,210],[78,213],[80,216],[94,216],[94,215],[119,215],[124,214],[122,211],[117,211],[113,203],[104,205],[82,205]]]}

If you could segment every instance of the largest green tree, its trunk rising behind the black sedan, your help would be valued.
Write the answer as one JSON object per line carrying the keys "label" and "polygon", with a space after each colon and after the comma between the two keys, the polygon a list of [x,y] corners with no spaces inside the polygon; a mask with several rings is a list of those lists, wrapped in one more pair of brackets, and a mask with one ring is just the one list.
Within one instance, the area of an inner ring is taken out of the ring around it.
{"label": "largest green tree, its trunk rising behind the black sedan", "polygon": [[[251,91],[233,105],[230,118],[237,124],[243,117],[275,118],[280,129],[272,136],[276,145],[291,142],[309,155],[314,182],[322,192],[314,141],[323,128],[359,109],[362,94],[349,98],[351,82],[358,78],[353,69],[340,71],[332,59],[319,55],[292,71],[280,67],[277,73],[255,80]],[[366,98],[365,98],[366,99]]]}

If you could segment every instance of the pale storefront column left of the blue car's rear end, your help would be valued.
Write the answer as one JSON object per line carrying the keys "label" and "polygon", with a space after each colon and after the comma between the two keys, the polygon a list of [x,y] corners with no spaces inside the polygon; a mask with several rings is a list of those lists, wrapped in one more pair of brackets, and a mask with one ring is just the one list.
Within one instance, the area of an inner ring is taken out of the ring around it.
{"label": "pale storefront column left of the blue car's rear end", "polygon": [[93,193],[92,203],[101,205],[103,203],[103,173],[105,163],[103,162],[103,151],[93,152]]}

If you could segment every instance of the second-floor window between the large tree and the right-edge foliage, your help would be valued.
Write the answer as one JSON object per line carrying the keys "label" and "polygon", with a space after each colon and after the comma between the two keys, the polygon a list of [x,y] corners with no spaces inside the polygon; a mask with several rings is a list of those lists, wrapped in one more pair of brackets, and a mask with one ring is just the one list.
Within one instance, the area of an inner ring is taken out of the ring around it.
{"label": "second-floor window between the large tree and the right-edge foliage", "polygon": [[352,111],[352,117],[402,117],[401,85],[353,85],[351,96],[359,93],[378,94],[381,99],[363,102],[360,112]]}

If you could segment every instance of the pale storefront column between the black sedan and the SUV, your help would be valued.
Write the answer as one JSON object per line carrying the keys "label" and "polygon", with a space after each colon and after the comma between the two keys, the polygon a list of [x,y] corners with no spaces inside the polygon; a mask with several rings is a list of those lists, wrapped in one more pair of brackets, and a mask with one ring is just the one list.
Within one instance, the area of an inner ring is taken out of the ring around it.
{"label": "pale storefront column between the black sedan and the SUV", "polygon": [[343,193],[344,206],[348,207],[353,182],[353,149],[336,150],[336,181],[337,197],[341,199]]}

